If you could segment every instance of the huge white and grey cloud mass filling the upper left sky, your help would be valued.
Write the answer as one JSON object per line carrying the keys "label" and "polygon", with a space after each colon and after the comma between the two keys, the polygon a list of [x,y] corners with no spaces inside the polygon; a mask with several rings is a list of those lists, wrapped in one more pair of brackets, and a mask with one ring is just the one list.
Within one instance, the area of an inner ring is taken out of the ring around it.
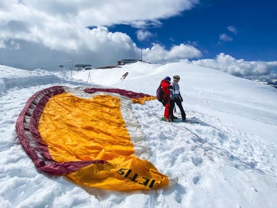
{"label": "huge white and grey cloud mass filling the upper left sky", "polygon": [[[140,57],[140,50],[127,34],[111,33],[107,26],[129,24],[143,30],[147,26],[161,26],[159,19],[179,15],[197,3],[199,0],[1,1],[0,57],[5,57],[1,62],[17,67],[13,58],[15,49],[23,66],[24,60],[35,64],[33,55],[40,64],[46,62],[45,53],[51,57],[48,65],[72,56],[94,66]],[[93,29],[87,29],[89,26]],[[139,35],[143,40],[151,33]],[[175,60],[174,55],[170,57]]]}

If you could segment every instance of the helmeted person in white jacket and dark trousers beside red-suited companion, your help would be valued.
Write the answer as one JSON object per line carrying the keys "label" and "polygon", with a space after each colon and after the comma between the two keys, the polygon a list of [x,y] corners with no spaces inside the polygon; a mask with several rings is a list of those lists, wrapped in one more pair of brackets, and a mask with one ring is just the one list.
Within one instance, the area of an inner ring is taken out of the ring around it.
{"label": "helmeted person in white jacket and dark trousers beside red-suited companion", "polygon": [[173,76],[173,83],[171,83],[169,86],[169,89],[170,89],[170,119],[171,119],[171,121],[173,121],[173,119],[176,119],[176,117],[173,114],[175,103],[181,111],[182,121],[186,121],[186,112],[184,111],[183,105],[181,104],[183,102],[183,98],[181,97],[180,87],[178,85],[179,80],[180,80],[180,77],[178,75]]}

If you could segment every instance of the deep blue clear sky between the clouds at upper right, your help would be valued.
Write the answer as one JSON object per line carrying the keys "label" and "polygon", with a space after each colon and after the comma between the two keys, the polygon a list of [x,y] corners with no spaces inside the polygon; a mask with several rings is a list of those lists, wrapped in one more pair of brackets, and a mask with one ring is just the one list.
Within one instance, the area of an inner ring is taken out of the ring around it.
{"label": "deep blue clear sky between the clouds at upper right", "polygon": [[[117,25],[109,31],[127,33],[138,47],[157,42],[170,49],[172,44],[195,42],[202,58],[226,53],[248,61],[277,60],[277,1],[205,0],[180,15],[160,20],[162,25],[145,28],[152,36],[140,41],[137,28]],[[232,26],[235,31],[228,27]],[[227,38],[220,40],[220,35]],[[229,37],[229,38],[228,38]]]}

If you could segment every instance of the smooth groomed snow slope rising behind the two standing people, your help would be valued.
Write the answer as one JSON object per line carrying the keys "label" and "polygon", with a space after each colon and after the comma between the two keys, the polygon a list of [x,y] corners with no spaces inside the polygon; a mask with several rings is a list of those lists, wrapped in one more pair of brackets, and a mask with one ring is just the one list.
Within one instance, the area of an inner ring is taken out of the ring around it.
{"label": "smooth groomed snow slope rising behind the two standing people", "polygon": [[[120,80],[126,72],[127,77]],[[179,85],[185,108],[217,116],[250,134],[256,132],[261,137],[268,134],[267,139],[276,141],[268,125],[277,126],[277,90],[269,85],[186,63],[136,62],[122,68],[78,71],[73,78],[155,95],[161,79],[175,74],[181,77]],[[262,132],[256,131],[256,125]]]}

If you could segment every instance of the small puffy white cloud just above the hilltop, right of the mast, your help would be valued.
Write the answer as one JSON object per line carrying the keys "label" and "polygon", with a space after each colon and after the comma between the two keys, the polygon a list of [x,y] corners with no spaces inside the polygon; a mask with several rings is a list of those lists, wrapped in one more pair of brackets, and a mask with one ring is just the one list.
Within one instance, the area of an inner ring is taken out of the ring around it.
{"label": "small puffy white cloud just above the hilltop, right of the mast", "polygon": [[180,59],[185,58],[199,58],[202,56],[201,51],[195,49],[195,47],[185,44],[179,46],[172,46],[170,51],[160,44],[153,44],[151,49],[143,50],[143,59],[152,63],[167,63],[167,62],[179,62]]}

